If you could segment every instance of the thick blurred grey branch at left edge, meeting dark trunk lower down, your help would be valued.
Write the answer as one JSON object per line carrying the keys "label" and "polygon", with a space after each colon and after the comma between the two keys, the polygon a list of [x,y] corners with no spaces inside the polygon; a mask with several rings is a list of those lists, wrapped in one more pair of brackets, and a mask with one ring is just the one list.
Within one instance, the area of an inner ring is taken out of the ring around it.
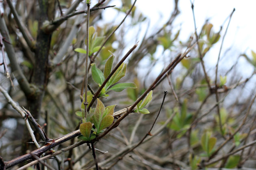
{"label": "thick blurred grey branch at left edge, meeting dark trunk lower down", "polygon": [[[2,13],[1,9],[0,9],[0,13]],[[0,17],[0,33],[2,34],[2,36],[4,38],[4,47],[6,49],[6,53],[9,57],[9,60],[11,63],[12,72],[17,73],[16,78],[17,78],[17,81],[18,81],[22,91],[25,93],[26,96],[33,95],[34,90],[32,88],[30,88],[28,80],[24,76],[19,64],[17,63],[14,48],[11,44],[7,43],[7,42],[11,42],[11,40],[10,40],[10,35],[7,30],[7,26],[5,24],[3,17]]]}

